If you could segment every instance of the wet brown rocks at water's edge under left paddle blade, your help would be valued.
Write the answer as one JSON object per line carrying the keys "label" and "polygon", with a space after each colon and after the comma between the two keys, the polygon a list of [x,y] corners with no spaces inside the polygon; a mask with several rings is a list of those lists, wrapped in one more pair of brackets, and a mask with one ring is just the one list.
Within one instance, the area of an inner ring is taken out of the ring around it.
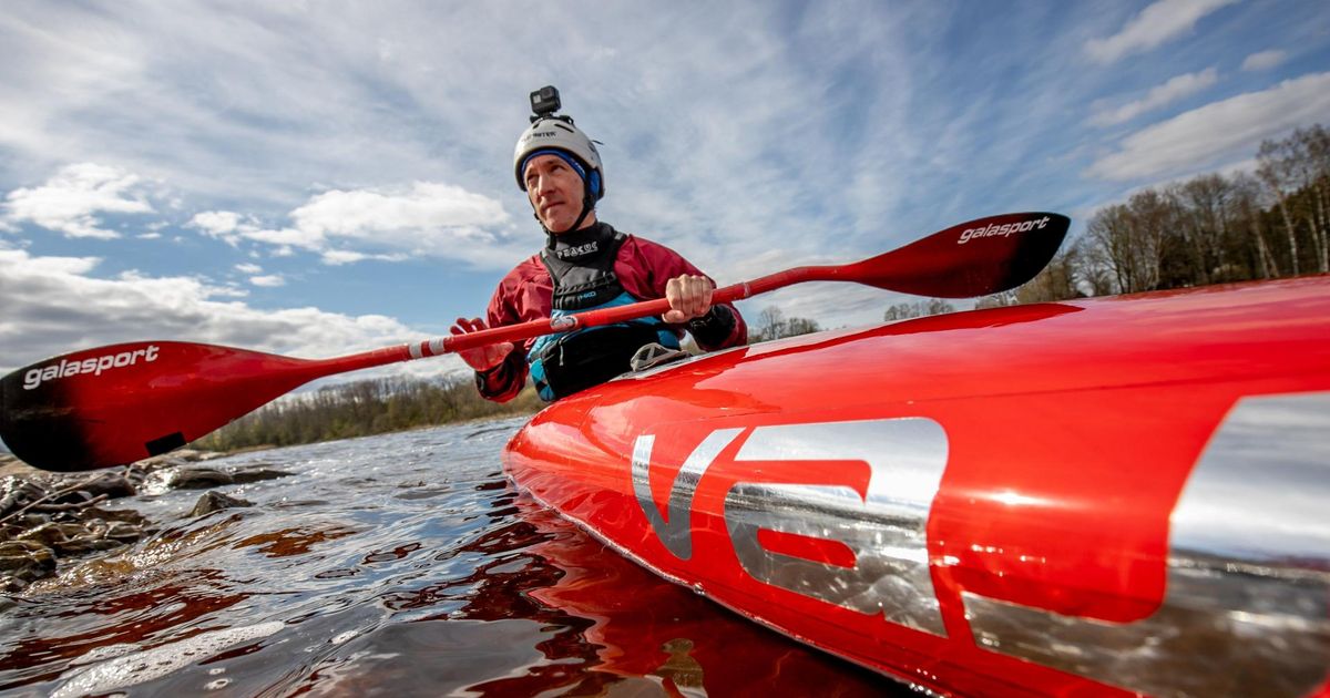
{"label": "wet brown rocks at water's edge under left paddle blade", "polygon": [[[291,475],[266,465],[214,468],[202,463],[221,456],[181,449],[106,471],[52,473],[0,453],[0,593],[23,592],[53,577],[61,562],[113,550],[157,532],[113,500],[158,495],[169,489],[210,489]],[[205,492],[189,516],[250,503]]]}

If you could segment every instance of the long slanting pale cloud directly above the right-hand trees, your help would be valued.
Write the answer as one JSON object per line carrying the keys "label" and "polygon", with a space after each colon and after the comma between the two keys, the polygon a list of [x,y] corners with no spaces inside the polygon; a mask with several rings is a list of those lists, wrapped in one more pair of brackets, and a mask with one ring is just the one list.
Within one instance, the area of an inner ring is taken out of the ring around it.
{"label": "long slanting pale cloud directly above the right-hand trees", "polygon": [[1330,73],[1286,80],[1138,130],[1089,166],[1103,179],[1186,174],[1248,158],[1265,138],[1330,114]]}

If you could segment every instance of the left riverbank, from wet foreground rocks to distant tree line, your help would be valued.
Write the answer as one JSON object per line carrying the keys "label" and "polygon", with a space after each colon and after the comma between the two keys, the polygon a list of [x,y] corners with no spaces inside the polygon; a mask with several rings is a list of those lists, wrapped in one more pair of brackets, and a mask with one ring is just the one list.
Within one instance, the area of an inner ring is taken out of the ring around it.
{"label": "left riverbank, from wet foreground rocks to distant tree line", "polygon": [[52,577],[65,561],[134,544],[158,523],[134,509],[106,508],[112,500],[168,489],[205,491],[194,516],[234,507],[243,499],[214,488],[282,477],[270,468],[245,472],[203,461],[290,445],[488,421],[529,415],[544,403],[529,387],[509,403],[476,395],[469,380],[359,382],[295,395],[251,412],[188,448],[126,467],[57,473],[0,452],[0,592],[17,593]]}

